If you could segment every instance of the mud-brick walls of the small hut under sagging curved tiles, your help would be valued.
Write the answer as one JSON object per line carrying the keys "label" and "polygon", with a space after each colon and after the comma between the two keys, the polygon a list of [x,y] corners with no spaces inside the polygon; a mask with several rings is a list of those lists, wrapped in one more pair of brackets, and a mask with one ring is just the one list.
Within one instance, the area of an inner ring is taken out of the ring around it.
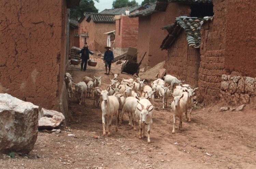
{"label": "mud-brick walls of the small hut under sagging curved tiles", "polygon": [[197,86],[200,52],[199,49],[188,46],[184,31],[168,49],[165,61],[167,74],[185,80],[186,84]]}

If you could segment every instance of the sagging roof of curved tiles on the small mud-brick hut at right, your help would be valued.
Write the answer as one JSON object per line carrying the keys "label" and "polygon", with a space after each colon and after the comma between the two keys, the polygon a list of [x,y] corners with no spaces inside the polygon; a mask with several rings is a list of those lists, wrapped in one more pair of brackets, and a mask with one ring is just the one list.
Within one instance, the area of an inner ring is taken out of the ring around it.
{"label": "sagging roof of curved tiles on the small mud-brick hut at right", "polygon": [[175,41],[176,37],[179,36],[182,29],[185,31],[185,36],[187,37],[188,46],[199,48],[201,44],[201,26],[204,21],[212,20],[213,17],[204,17],[204,19],[199,19],[197,17],[186,17],[180,16],[176,18],[175,22],[162,27],[162,29],[166,29],[169,34],[163,40],[160,48],[168,49]]}

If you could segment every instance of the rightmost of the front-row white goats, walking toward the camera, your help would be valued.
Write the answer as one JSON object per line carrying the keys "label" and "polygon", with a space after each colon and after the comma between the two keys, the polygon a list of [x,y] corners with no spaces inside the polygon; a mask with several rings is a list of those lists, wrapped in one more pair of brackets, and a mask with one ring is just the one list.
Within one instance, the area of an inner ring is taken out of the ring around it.
{"label": "rightmost of the front-row white goats, walking toward the camera", "polygon": [[185,108],[185,102],[183,100],[181,100],[181,98],[183,98],[183,96],[184,95],[182,95],[182,96],[175,96],[173,98],[173,101],[172,101],[172,104],[171,104],[172,111],[173,111],[173,129],[172,129],[172,134],[174,134],[175,129],[177,129],[177,126],[176,126],[176,116],[180,118],[179,128],[182,131],[182,116],[183,116],[183,110]]}

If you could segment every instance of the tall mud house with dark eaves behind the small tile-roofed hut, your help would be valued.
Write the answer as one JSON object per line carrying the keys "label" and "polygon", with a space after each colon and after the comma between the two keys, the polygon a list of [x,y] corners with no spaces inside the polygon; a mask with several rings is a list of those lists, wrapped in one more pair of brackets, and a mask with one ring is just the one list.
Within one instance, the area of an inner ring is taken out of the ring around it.
{"label": "tall mud house with dark eaves behind the small tile-roofed hut", "polygon": [[[200,12],[198,12],[200,11]],[[141,67],[155,66],[165,60],[167,51],[159,48],[162,39],[168,33],[161,28],[167,24],[173,23],[175,17],[179,16],[204,16],[212,12],[212,3],[208,1],[187,1],[187,0],[161,0],[155,5],[140,11],[130,17],[139,18],[139,37],[138,37],[138,59],[144,57]]]}

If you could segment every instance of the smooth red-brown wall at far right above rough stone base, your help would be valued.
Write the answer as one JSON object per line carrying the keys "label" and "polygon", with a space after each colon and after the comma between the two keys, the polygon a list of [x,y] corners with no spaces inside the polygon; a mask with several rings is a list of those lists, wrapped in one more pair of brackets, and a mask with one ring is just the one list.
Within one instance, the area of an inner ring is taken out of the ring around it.
{"label": "smooth red-brown wall at far right above rough stone base", "polygon": [[[217,4],[216,4],[217,5]],[[255,1],[228,1],[225,69],[256,77]]]}

